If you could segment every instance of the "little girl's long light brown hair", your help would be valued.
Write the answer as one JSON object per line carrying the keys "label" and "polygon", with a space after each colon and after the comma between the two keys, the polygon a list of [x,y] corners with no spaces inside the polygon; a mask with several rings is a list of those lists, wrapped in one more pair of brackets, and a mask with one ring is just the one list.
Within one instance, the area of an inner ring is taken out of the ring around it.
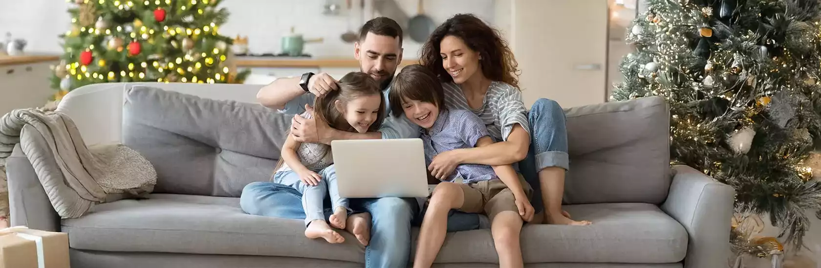
{"label": "little girl's long light brown hair", "polygon": [[370,75],[359,71],[342,76],[342,79],[339,79],[338,90],[331,90],[323,98],[317,97],[314,100],[315,116],[328,122],[328,125],[334,129],[355,131],[351,124],[348,124],[348,121],[345,120],[345,116],[342,116],[342,112],[337,110],[335,102],[337,100],[348,102],[351,99],[365,95],[379,96],[379,111],[377,111],[376,120],[368,128],[368,131],[377,131],[382,126],[382,121],[386,116],[385,100],[382,98],[382,90],[376,80]]}

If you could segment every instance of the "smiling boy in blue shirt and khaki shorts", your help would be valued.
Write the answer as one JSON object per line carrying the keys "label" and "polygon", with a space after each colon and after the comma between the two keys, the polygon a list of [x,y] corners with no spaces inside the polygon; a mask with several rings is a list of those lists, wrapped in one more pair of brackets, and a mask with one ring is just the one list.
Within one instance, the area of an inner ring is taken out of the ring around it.
{"label": "smiling boy in blue shirt and khaki shorts", "polygon": [[[493,143],[482,120],[471,111],[443,107],[442,84],[424,66],[406,66],[393,79],[388,100],[393,116],[405,116],[422,127],[424,157]],[[441,176],[439,176],[441,177]],[[502,267],[522,267],[519,234],[522,220],[533,219],[530,185],[510,165],[462,164],[433,189],[424,213],[414,267],[430,267],[442,248],[451,209],[484,212],[491,222],[493,243]]]}

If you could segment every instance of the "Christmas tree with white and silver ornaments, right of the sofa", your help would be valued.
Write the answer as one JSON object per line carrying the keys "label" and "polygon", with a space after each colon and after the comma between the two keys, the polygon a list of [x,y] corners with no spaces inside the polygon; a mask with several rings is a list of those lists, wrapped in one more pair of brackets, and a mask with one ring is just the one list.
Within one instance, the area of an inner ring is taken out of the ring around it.
{"label": "Christmas tree with white and silver ornaments, right of the sofa", "polygon": [[[672,164],[735,188],[736,216],[768,215],[782,240],[759,243],[800,248],[821,208],[819,1],[648,2],[612,99],[666,98]],[[772,252],[733,234],[736,252]]]}

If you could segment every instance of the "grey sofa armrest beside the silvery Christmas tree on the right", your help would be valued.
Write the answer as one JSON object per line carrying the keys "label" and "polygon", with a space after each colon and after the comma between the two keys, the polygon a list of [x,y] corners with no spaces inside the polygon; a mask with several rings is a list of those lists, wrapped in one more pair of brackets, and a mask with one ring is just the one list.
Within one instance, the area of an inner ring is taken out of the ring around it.
{"label": "grey sofa armrest beside the silvery Christmas tree on the right", "polygon": [[673,166],[673,174],[662,210],[689,234],[684,267],[727,266],[735,189],[690,166]]}

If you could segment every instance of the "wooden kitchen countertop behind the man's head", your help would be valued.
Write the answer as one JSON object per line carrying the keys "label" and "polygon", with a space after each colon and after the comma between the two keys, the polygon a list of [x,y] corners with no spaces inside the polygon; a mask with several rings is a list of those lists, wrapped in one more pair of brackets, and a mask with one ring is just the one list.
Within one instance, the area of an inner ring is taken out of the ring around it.
{"label": "wooden kitchen countertop behind the man's head", "polygon": [[[301,67],[351,67],[358,68],[359,61],[350,58],[331,57],[236,57],[237,67],[273,67],[273,68],[301,68]],[[416,59],[402,60],[401,66],[419,63]]]}

